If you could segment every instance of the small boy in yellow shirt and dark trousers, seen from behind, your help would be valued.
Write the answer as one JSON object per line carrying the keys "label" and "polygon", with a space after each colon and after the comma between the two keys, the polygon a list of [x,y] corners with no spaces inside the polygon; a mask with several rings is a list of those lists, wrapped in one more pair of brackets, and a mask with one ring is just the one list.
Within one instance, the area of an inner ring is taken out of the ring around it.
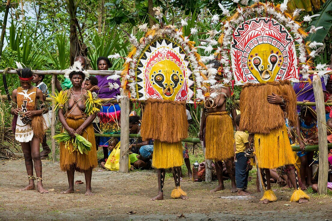
{"label": "small boy in yellow shirt and dark trousers, seen from behind", "polygon": [[[241,114],[236,115],[235,123],[237,126],[240,124]],[[246,191],[248,185],[249,168],[248,157],[246,157],[246,150],[249,149],[249,135],[244,131],[237,130],[235,132],[235,180],[237,195],[249,195]]]}

